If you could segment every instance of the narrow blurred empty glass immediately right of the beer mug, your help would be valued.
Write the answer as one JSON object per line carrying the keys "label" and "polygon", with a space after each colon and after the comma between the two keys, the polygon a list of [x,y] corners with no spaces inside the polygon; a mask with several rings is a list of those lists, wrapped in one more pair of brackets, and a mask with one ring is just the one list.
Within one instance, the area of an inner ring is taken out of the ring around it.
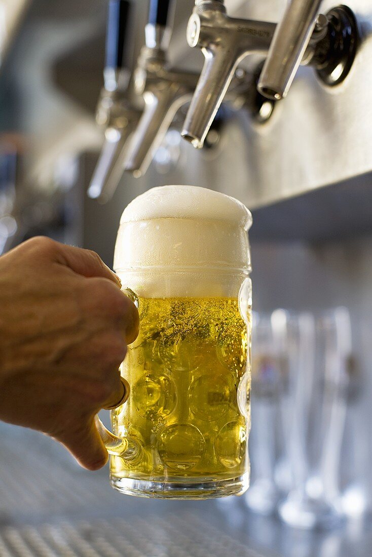
{"label": "narrow blurred empty glass immediately right of the beer mug", "polygon": [[253,314],[252,423],[249,439],[252,482],[245,502],[263,515],[277,508],[280,492],[275,481],[281,419],[279,391],[287,374],[286,312]]}

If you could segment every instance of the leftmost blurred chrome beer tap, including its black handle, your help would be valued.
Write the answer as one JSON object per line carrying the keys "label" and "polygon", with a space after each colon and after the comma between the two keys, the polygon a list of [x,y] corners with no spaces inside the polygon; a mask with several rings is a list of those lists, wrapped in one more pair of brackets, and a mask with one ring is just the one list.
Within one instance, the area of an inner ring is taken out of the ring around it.
{"label": "leftmost blurred chrome beer tap, including its black handle", "polygon": [[128,99],[131,9],[127,0],[109,2],[104,89],[96,113],[97,124],[105,130],[105,141],[88,189],[88,196],[100,203],[108,202],[117,189],[128,138],[142,112]]}

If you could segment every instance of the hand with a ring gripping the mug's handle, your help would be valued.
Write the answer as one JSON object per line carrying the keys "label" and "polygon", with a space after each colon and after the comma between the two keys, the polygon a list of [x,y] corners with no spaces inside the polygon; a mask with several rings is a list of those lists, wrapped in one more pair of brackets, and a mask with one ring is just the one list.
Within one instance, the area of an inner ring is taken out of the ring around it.
{"label": "hand with a ring gripping the mug's handle", "polygon": [[32,238],[0,257],[0,419],[42,431],[81,466],[107,451],[95,414],[123,395],[138,311],[94,252]]}

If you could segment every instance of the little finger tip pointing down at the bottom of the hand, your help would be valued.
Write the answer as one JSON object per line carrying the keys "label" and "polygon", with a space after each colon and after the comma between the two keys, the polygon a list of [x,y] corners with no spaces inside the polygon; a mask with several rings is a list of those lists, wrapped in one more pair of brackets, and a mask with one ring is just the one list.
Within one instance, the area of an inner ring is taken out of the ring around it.
{"label": "little finger tip pointing down at the bottom of the hand", "polygon": [[108,453],[94,424],[94,418],[78,431],[68,432],[57,441],[76,458],[86,470],[99,470],[108,461]]}

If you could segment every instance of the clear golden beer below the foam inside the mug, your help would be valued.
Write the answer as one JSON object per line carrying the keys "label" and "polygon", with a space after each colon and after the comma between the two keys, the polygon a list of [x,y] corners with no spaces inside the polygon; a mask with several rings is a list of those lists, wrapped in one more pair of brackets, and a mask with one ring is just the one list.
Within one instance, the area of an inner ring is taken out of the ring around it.
{"label": "clear golden beer below the foam inside the mug", "polygon": [[243,476],[247,424],[237,391],[248,336],[238,300],[140,299],[139,311],[139,337],[122,365],[131,396],[113,413],[113,426],[141,443],[142,457],[112,457],[112,475],[154,482]]}

